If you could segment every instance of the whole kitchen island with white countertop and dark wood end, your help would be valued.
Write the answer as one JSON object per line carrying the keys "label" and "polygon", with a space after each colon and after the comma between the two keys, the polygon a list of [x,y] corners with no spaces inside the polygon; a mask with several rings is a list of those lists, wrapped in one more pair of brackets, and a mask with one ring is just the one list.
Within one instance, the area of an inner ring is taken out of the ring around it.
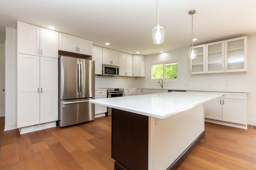
{"label": "whole kitchen island with white countertop and dark wood end", "polygon": [[222,94],[169,92],[104,98],[112,107],[116,170],[176,169],[204,137],[204,103]]}

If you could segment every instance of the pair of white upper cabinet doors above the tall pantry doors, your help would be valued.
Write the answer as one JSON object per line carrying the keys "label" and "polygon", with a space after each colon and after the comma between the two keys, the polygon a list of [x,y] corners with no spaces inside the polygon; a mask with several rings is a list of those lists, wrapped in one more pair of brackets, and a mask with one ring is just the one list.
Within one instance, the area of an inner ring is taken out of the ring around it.
{"label": "pair of white upper cabinet doors above the tall pantry doors", "polygon": [[17,52],[58,58],[58,32],[18,21]]}

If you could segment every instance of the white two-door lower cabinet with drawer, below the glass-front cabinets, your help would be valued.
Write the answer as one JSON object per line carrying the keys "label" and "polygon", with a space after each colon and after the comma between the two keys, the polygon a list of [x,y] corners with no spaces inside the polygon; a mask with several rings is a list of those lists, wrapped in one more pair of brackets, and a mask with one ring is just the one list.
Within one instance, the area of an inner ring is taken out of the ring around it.
{"label": "white two-door lower cabinet with drawer, below the glass-front cabinets", "polygon": [[[203,92],[212,93],[212,92]],[[221,93],[221,92],[214,92]],[[221,93],[216,98],[205,103],[205,118],[223,122],[247,125],[246,120],[246,93]],[[215,122],[214,122],[215,123]],[[216,122],[218,123],[218,122]],[[221,124],[221,122],[219,122]],[[236,127],[236,126],[235,126]]]}

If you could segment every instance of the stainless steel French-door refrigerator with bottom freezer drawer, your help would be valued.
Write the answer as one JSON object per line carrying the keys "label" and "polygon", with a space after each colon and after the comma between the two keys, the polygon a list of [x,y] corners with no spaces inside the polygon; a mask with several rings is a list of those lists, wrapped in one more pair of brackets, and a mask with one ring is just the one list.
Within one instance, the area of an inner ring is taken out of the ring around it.
{"label": "stainless steel French-door refrigerator with bottom freezer drawer", "polygon": [[94,61],[59,56],[58,126],[75,125],[95,119]]}

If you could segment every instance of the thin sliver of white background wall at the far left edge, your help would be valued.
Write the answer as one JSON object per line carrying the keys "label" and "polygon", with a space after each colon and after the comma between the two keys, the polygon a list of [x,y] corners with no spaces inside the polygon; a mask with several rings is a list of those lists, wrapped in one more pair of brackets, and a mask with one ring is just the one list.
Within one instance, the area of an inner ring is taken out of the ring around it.
{"label": "thin sliver of white background wall at the far left edge", "polygon": [[0,43],[0,117],[4,116],[4,72],[5,72],[5,59],[4,59],[4,44]]}

